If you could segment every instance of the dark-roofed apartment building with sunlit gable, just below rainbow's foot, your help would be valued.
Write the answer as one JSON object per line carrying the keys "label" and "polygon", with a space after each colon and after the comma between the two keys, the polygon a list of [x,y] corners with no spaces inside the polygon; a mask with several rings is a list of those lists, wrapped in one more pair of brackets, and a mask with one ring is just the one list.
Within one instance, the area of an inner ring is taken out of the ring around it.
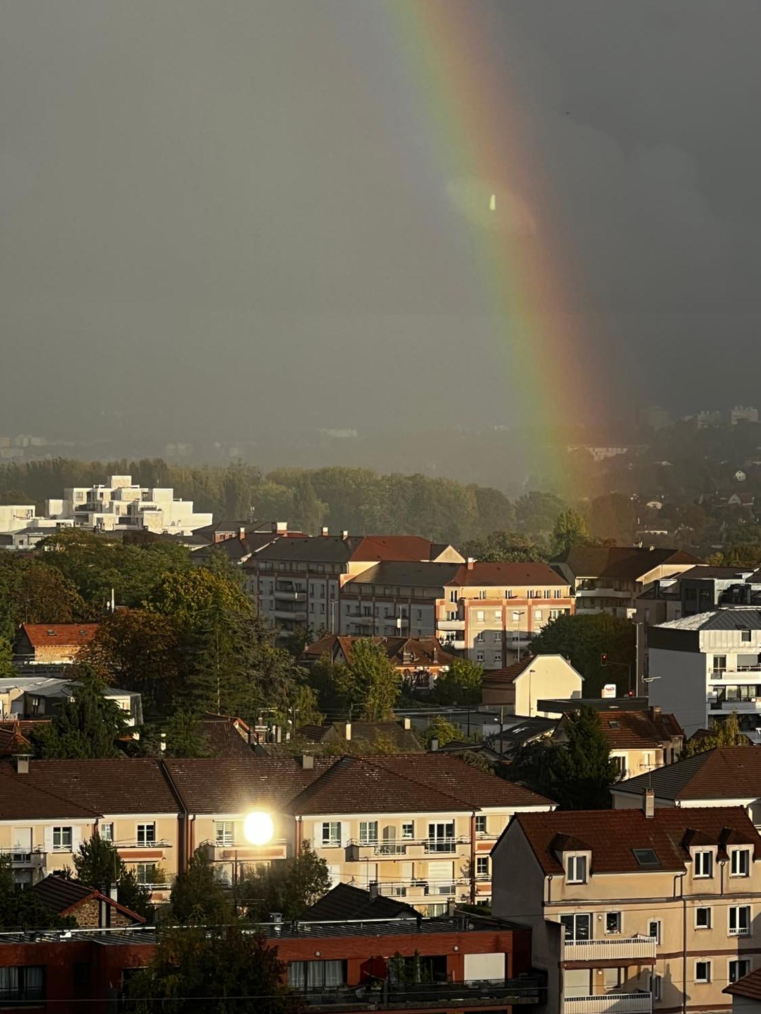
{"label": "dark-roofed apartment building with sunlit gable, just below rainbow's foot", "polygon": [[577,613],[632,619],[637,596],[648,585],[699,563],[681,550],[575,546],[554,557],[550,566],[570,585]]}

